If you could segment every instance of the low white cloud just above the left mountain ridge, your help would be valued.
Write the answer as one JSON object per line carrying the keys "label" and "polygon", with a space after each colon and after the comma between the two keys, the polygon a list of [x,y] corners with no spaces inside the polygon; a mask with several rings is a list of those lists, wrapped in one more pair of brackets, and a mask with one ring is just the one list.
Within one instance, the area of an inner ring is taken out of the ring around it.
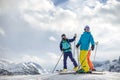
{"label": "low white cloud just above the left mountain ridge", "polygon": [[56,60],[58,59],[59,59],[59,55],[57,55],[56,53],[47,52],[44,55],[41,55],[40,57],[26,54],[22,57],[21,61],[22,62],[35,62],[35,63],[42,65],[42,67],[46,69],[47,68],[52,69],[53,65],[57,63]]}

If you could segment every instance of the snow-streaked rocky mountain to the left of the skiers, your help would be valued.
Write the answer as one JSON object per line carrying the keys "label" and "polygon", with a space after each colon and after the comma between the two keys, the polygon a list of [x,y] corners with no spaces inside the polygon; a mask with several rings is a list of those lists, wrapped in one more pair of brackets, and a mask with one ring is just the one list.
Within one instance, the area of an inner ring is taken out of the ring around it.
{"label": "snow-streaked rocky mountain to the left of the skiers", "polygon": [[0,75],[35,75],[43,73],[45,73],[45,70],[35,62],[15,64],[0,60]]}

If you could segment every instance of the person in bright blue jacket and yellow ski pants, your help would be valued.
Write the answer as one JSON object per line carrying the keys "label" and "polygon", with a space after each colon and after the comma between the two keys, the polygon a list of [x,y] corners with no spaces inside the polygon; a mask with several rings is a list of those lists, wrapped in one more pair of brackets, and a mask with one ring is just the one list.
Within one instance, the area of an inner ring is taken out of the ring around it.
{"label": "person in bright blue jacket and yellow ski pants", "polygon": [[91,72],[90,67],[88,65],[88,61],[87,61],[87,55],[88,55],[88,49],[89,49],[90,43],[91,43],[91,50],[94,50],[95,42],[92,34],[90,33],[90,27],[86,25],[84,28],[84,32],[81,35],[76,45],[77,48],[80,46],[79,61],[81,64],[81,69],[77,71],[78,73]]}

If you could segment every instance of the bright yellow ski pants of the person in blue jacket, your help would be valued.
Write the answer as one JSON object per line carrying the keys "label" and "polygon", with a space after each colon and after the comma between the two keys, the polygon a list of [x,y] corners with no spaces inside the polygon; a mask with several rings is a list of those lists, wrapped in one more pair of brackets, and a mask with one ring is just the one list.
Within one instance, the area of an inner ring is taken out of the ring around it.
{"label": "bright yellow ski pants of the person in blue jacket", "polygon": [[79,62],[81,64],[81,68],[85,71],[89,71],[89,65],[87,61],[87,55],[88,51],[87,50],[80,50],[80,56],[79,56]]}

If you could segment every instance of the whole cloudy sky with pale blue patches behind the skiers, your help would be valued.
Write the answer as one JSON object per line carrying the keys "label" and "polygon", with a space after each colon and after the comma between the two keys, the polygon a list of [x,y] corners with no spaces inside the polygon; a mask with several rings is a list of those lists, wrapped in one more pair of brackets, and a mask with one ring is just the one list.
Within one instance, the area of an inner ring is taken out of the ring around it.
{"label": "whole cloudy sky with pale blue patches behind the skiers", "polygon": [[119,9],[119,0],[0,0],[0,57],[53,67],[61,34],[77,33],[78,41],[89,25],[99,42],[96,60],[118,58]]}

